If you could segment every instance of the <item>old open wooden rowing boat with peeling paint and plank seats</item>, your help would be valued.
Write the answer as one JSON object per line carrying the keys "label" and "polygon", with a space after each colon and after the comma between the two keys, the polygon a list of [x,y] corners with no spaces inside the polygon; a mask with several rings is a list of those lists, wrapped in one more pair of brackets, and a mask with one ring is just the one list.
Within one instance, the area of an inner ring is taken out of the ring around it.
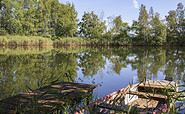
{"label": "old open wooden rowing boat with peeling paint and plank seats", "polygon": [[[167,96],[163,90],[173,95],[178,91],[177,84],[167,80],[147,80],[143,83],[128,85],[126,88],[113,92],[94,103],[91,103],[76,114],[109,114],[116,112],[161,113],[167,110]],[[171,102],[173,99],[171,99]],[[129,111],[128,111],[129,110]]]}

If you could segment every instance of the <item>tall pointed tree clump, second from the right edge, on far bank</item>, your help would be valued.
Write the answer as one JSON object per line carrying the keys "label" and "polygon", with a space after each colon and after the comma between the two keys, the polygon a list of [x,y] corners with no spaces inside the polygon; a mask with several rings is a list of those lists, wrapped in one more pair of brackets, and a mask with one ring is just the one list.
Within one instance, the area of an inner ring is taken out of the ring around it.
{"label": "tall pointed tree clump, second from the right edge, on far bank", "polygon": [[138,21],[134,21],[131,30],[135,33],[133,44],[163,45],[166,43],[166,25],[160,20],[159,13],[154,14],[151,7],[149,13],[146,7],[141,5]]}

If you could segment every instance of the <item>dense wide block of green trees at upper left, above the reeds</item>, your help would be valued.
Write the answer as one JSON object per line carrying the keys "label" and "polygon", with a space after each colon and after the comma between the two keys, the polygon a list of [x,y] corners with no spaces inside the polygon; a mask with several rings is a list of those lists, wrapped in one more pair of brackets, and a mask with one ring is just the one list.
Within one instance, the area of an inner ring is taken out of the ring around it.
{"label": "dense wide block of green trees at upper left, above the reeds", "polygon": [[3,0],[1,28],[13,35],[73,36],[77,32],[73,4],[58,0]]}

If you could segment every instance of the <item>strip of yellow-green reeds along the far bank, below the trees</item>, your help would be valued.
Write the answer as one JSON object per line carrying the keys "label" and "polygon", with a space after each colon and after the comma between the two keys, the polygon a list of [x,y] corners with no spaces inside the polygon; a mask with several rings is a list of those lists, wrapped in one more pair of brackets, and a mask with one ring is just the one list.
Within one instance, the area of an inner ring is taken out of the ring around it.
{"label": "strip of yellow-green reeds along the far bank, below the trees", "polygon": [[51,38],[45,38],[42,36],[19,36],[19,35],[6,35],[0,36],[0,46],[152,46],[152,47],[179,47],[180,45],[163,44],[163,45],[148,45],[148,44],[118,44],[114,41],[105,39],[89,39],[85,37],[64,37],[60,39],[51,40]]}

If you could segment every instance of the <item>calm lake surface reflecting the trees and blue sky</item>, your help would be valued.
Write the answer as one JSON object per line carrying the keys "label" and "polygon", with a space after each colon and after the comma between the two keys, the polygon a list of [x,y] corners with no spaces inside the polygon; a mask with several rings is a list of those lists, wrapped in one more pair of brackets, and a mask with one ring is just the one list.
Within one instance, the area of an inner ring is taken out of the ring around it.
{"label": "calm lake surface reflecting the trees and blue sky", "polygon": [[182,47],[0,48],[0,99],[52,81],[98,84],[98,97],[145,79],[185,82]]}

